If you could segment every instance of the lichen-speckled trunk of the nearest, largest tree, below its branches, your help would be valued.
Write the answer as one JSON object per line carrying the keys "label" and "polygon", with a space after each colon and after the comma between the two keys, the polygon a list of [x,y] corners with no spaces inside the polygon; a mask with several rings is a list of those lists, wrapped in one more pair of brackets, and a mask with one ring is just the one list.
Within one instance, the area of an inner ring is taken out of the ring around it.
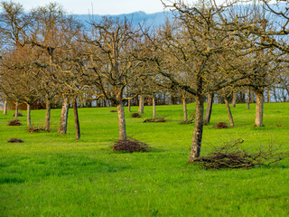
{"label": "lichen-speckled trunk of the nearest, largest tree, below its branches", "polygon": [[195,127],[193,128],[189,163],[192,163],[195,158],[200,156],[200,146],[202,139],[204,99],[201,95],[197,95],[195,99],[196,99],[196,118],[195,118]]}

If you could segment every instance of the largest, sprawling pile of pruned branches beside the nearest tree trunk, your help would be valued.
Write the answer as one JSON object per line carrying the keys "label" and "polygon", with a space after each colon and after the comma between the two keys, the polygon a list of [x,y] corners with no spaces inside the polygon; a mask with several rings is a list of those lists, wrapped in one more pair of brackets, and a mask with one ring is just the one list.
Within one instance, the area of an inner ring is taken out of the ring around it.
{"label": "largest, sprawling pile of pruned branches beside the nearest tree trunk", "polygon": [[256,165],[271,165],[289,156],[289,152],[278,152],[279,148],[270,145],[264,150],[259,148],[255,153],[249,153],[240,144],[243,139],[228,142],[226,146],[215,147],[208,156],[194,159],[206,169],[221,168],[251,168]]}

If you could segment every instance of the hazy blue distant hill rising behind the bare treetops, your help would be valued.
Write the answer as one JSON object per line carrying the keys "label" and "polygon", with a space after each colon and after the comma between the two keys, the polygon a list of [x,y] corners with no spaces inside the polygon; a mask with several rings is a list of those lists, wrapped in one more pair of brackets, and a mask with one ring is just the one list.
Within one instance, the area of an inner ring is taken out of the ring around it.
{"label": "hazy blue distant hill rising behind the bare treetops", "polygon": [[84,24],[91,21],[91,18],[96,22],[99,23],[104,16],[111,17],[111,18],[118,18],[120,20],[127,19],[131,21],[133,25],[143,24],[145,23],[147,26],[160,26],[164,24],[165,20],[172,19],[172,12],[158,12],[154,14],[145,14],[143,11],[131,13],[131,14],[119,14],[119,15],[89,15],[89,14],[74,14],[75,18],[79,21],[83,22]]}

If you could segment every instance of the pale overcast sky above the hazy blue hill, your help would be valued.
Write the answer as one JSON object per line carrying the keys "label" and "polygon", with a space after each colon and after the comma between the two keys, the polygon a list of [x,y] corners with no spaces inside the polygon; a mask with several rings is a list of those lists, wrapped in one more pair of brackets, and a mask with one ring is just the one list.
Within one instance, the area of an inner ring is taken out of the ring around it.
{"label": "pale overcast sky above the hazy blue hill", "polygon": [[127,14],[144,11],[147,14],[163,11],[160,0],[14,0],[30,10],[51,2],[60,3],[71,14]]}

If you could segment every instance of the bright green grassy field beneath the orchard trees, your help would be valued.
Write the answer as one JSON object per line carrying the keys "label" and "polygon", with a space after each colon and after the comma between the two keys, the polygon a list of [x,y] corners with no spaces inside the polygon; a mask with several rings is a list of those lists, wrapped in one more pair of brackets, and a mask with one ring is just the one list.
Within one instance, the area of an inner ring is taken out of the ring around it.
{"label": "bright green grassy field beneath the orchard trees", "polygon": [[[194,104],[188,106],[189,111]],[[72,110],[67,135],[57,133],[61,110],[51,111],[51,132],[8,127],[13,111],[0,114],[0,216],[289,216],[289,159],[252,169],[205,170],[188,165],[193,125],[179,125],[182,106],[159,106],[165,123],[142,123],[126,113],[129,137],[149,144],[148,153],[114,153],[118,137],[115,108],[79,109],[81,139],[74,139]],[[133,107],[132,112],[137,108]],[[43,126],[44,110],[33,110],[33,126]],[[201,155],[238,138],[244,146],[274,142],[289,150],[289,103],[265,104],[265,127],[254,127],[255,105],[214,105],[204,127]],[[17,137],[24,143],[10,144]]]}

